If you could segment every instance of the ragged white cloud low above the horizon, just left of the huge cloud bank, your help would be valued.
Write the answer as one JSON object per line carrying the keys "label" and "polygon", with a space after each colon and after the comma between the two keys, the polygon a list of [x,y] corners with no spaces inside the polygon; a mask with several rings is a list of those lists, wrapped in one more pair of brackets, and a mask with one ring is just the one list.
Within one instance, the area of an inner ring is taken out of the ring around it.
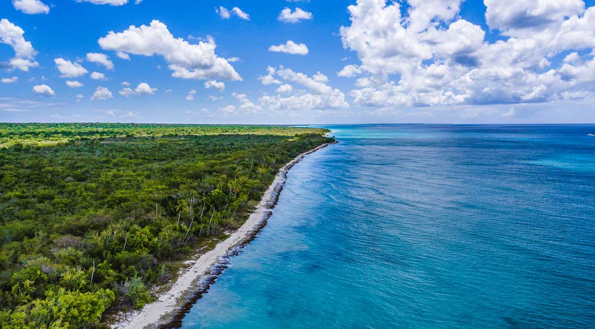
{"label": "ragged white cloud low above the horizon, just left of the huge cloud bank", "polygon": [[[286,85],[293,87],[289,83],[294,83],[305,87],[309,92],[299,90],[293,96],[284,97],[281,95],[270,96],[263,95],[258,99],[263,108],[275,110],[297,110],[297,109],[337,109],[348,108],[349,103],[345,101],[345,94],[339,89],[334,89],[328,86],[325,82],[328,78],[324,74],[318,72],[313,77],[308,77],[304,73],[299,73],[290,68],[280,67],[275,69],[273,67],[267,68],[268,76],[273,79],[280,79],[286,82]],[[278,88],[281,91],[287,91],[290,88]],[[277,89],[277,90],[278,90]]]}

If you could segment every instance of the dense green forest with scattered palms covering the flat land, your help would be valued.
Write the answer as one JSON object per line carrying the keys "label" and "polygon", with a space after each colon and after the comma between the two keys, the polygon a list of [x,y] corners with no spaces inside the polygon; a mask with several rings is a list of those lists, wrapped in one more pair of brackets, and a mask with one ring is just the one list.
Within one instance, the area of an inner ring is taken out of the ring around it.
{"label": "dense green forest with scattered palms covering the flat land", "polygon": [[141,308],[325,132],[0,124],[0,327],[100,328]]}

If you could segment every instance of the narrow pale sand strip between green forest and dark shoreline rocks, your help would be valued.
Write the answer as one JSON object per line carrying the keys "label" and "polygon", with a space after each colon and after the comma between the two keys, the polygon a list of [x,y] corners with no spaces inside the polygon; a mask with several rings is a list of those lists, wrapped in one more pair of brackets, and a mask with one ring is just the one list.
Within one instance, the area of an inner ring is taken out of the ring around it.
{"label": "narrow pale sand strip between green forest and dark shoreline rocks", "polygon": [[250,233],[261,226],[262,221],[265,220],[265,212],[270,211],[270,204],[274,202],[279,193],[280,186],[286,181],[287,171],[293,167],[300,159],[309,153],[318,151],[329,144],[318,146],[318,148],[305,152],[297,156],[295,159],[287,163],[279,170],[273,184],[268,187],[267,191],[262,196],[258,203],[256,210],[250,215],[246,223],[242,225],[236,232],[231,234],[226,240],[220,242],[214,249],[201,255],[199,259],[194,262],[194,265],[183,270],[177,281],[173,284],[168,292],[161,294],[159,299],[155,302],[145,305],[140,311],[134,311],[127,314],[124,319],[117,324],[112,325],[112,328],[118,329],[141,329],[145,327],[156,327],[159,324],[159,319],[165,315],[170,315],[173,312],[179,311],[183,303],[183,296],[194,287],[194,283],[201,279],[205,274],[208,274],[209,268],[218,262],[220,257],[223,257],[227,252],[238,245],[241,245],[246,240]]}

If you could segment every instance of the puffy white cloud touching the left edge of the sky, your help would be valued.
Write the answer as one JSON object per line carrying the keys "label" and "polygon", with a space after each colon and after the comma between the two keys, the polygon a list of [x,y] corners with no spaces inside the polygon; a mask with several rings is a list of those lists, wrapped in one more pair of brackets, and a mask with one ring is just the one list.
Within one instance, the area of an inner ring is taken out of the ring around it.
{"label": "puffy white cloud touching the left edge of the sky", "polygon": [[31,42],[24,39],[24,33],[23,29],[6,18],[0,20],[0,43],[11,46],[14,51],[14,57],[8,60],[8,67],[27,72],[29,68],[38,67],[39,63],[35,61],[37,52]]}

